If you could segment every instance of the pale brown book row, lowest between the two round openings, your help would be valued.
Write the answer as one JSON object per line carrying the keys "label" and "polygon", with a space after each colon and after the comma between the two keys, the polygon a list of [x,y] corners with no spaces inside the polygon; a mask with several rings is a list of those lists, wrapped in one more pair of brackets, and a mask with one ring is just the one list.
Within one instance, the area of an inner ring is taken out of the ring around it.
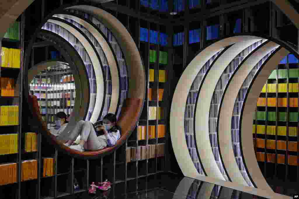
{"label": "pale brown book row, lowest between the two round openings", "polygon": [[[157,146],[157,153],[156,153],[156,146]],[[128,147],[126,149],[126,161],[132,162],[136,161],[136,150],[137,150],[137,160],[144,160],[157,157],[164,156],[164,147],[165,144],[153,144],[146,146],[138,146],[136,147]]]}

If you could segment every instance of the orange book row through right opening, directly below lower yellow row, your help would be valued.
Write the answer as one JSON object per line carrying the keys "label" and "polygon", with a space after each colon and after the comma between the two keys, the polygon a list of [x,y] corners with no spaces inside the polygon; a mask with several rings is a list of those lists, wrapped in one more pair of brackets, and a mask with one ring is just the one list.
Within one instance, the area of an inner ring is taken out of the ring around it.
{"label": "orange book row through right opening, directly below lower yellow row", "polygon": [[[261,139],[261,138],[257,138],[257,139],[253,139],[254,142],[254,146],[256,146],[257,148],[266,148],[267,149],[275,149],[275,146],[277,144],[277,149],[279,150],[286,150],[286,141],[283,140],[277,140],[277,142],[275,142],[275,140],[266,140],[265,139]],[[294,142],[294,141],[288,141],[288,150],[289,151],[297,151],[298,150],[298,142]]]}

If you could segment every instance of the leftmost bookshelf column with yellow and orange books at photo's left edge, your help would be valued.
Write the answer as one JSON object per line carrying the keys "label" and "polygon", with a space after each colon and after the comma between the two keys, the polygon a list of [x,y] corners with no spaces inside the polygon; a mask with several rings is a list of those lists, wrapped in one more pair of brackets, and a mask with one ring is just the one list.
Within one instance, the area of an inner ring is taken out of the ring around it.
{"label": "leftmost bookshelf column with yellow and orange books at photo's left edge", "polygon": [[16,198],[19,195],[19,187],[25,183],[24,177],[31,177],[22,175],[28,165],[27,160],[35,159],[36,154],[21,157],[26,139],[26,132],[22,129],[23,96],[19,90],[23,85],[23,34],[24,15],[17,18],[0,41],[0,191],[3,198]]}

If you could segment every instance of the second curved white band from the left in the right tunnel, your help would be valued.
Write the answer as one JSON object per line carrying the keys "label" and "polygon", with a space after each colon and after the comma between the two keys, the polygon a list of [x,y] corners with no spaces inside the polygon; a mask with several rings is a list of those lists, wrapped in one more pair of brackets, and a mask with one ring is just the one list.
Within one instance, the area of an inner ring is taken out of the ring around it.
{"label": "second curved white band from the left in the right tunnel", "polygon": [[[229,47],[211,66],[210,71],[206,75],[202,82],[202,87],[198,93],[198,101],[196,104],[196,110],[194,110],[195,120],[195,135],[196,144],[202,161],[202,165],[208,176],[212,178],[218,178],[225,180],[219,167],[215,161],[213,151],[209,142],[209,112],[210,103],[213,98],[214,88],[221,77],[223,71],[228,64],[245,48],[254,44],[260,39],[243,39],[236,44]],[[231,132],[231,131],[229,131]],[[232,148],[232,146],[231,146]],[[239,170],[239,169],[238,169]],[[243,185],[247,186],[245,180],[240,181]]]}

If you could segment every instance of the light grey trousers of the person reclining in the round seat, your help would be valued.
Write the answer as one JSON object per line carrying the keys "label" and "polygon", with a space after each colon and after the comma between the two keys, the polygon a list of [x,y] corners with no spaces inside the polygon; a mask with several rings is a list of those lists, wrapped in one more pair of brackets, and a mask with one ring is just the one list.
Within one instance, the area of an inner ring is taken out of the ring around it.
{"label": "light grey trousers of the person reclining in the round seat", "polygon": [[81,136],[81,140],[86,141],[84,144],[86,150],[99,150],[107,146],[107,141],[97,138],[90,121],[80,120],[70,132],[69,139],[75,141],[78,135]]}

